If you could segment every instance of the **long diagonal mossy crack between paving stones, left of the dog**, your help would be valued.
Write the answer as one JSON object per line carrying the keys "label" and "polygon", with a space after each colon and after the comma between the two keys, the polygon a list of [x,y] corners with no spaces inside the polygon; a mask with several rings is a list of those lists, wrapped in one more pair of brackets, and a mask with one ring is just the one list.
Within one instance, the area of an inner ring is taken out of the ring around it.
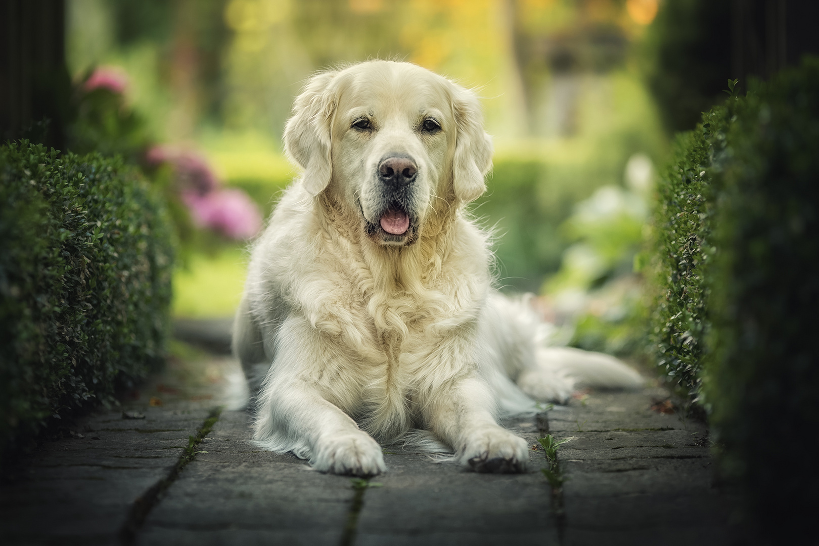
{"label": "long diagonal mossy crack between paving stones, left of the dog", "polygon": [[170,469],[168,475],[160,481],[157,481],[148,488],[145,493],[141,494],[138,499],[133,501],[128,513],[128,518],[120,528],[120,544],[123,544],[123,546],[132,546],[136,542],[137,533],[145,523],[148,514],[160,503],[165,491],[179,478],[179,474],[183,471],[184,467],[188,466],[188,463],[191,463],[197,458],[199,444],[201,444],[202,440],[205,440],[206,435],[210,433],[213,426],[219,421],[220,413],[222,413],[221,407],[210,410],[207,418],[202,422],[202,426],[199,427],[197,434],[195,436],[188,436],[188,446],[179,456],[174,467]]}

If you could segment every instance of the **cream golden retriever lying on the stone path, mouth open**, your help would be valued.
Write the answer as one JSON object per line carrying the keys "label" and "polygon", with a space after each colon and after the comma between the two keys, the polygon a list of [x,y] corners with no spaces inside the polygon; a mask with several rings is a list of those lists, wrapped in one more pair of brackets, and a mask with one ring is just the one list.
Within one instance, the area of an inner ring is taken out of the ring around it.
{"label": "cream golden retriever lying on the stone path, mouth open", "polygon": [[545,346],[526,301],[493,289],[464,210],[491,168],[482,123],[474,93],[404,62],[328,70],[296,98],[284,144],[304,174],[252,247],[233,333],[265,449],[373,476],[379,442],[415,437],[523,472],[527,443],[498,417],[579,382],[640,384],[612,357]]}

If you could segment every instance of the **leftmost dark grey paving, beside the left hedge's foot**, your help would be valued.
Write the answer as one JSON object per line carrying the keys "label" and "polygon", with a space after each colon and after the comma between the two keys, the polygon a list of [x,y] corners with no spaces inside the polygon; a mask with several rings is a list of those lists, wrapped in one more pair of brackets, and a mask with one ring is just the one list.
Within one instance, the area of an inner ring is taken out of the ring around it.
{"label": "leftmost dark grey paving, beside the left hedge's foot", "polygon": [[133,502],[176,464],[204,409],[120,409],[79,422],[84,437],[48,442],[0,489],[2,544],[118,544]]}

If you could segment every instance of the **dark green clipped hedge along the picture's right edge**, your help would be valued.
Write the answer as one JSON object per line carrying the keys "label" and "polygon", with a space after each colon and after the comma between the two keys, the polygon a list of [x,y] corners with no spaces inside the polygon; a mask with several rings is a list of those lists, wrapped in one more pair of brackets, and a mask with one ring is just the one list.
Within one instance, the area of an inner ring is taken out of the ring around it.
{"label": "dark green clipped hedge along the picture's right edge", "polygon": [[677,140],[655,219],[658,361],[708,409],[763,544],[819,502],[819,59]]}

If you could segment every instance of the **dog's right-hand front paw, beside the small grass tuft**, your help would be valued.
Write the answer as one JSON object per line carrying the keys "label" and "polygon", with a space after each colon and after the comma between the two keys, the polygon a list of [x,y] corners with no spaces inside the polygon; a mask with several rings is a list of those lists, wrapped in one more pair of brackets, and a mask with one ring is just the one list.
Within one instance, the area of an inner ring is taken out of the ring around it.
{"label": "dog's right-hand front paw, beside the small grass tuft", "polygon": [[459,453],[459,461],[475,472],[526,472],[529,446],[526,440],[500,426],[468,435]]}

